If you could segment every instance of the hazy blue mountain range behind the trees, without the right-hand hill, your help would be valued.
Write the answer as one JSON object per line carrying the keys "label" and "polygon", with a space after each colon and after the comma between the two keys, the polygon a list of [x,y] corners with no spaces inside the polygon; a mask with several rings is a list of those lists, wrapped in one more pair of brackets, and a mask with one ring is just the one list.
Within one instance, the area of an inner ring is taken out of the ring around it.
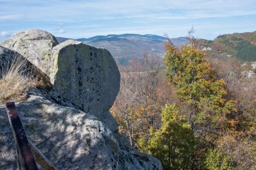
{"label": "hazy blue mountain range behind the trees, without the right-hand hill", "polygon": [[[59,42],[68,40],[68,38],[57,37]],[[94,36],[92,38],[78,38],[80,42],[85,42],[98,48],[106,48],[111,52],[114,58],[140,58],[143,53],[164,55],[164,43],[167,42],[163,36],[152,34],[110,34],[107,36]],[[172,38],[175,46],[187,44],[189,41],[185,37]]]}

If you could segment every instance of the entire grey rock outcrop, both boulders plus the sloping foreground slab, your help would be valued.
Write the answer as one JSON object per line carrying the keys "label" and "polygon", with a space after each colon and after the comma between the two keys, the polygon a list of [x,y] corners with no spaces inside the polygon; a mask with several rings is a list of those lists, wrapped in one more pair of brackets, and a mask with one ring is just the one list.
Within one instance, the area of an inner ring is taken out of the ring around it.
{"label": "entire grey rock outcrop, both boulders plus the sloping foreground slab", "polygon": [[[9,60],[7,54],[15,50],[52,83],[50,91],[29,91],[28,99],[16,105],[28,138],[55,167],[162,169],[160,161],[139,153],[118,134],[109,109],[119,91],[120,73],[108,50],[74,40],[58,44],[42,30],[21,32],[1,46],[1,58]],[[4,105],[0,106],[0,160],[0,169],[16,169]]]}

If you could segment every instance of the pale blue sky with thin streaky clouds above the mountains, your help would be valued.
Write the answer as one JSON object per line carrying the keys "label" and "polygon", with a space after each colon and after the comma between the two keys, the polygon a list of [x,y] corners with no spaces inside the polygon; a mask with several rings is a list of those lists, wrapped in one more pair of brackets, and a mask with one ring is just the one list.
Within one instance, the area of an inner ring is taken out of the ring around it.
{"label": "pale blue sky with thin streaky clouds above the mountains", "polygon": [[89,38],[107,34],[196,38],[256,30],[256,0],[0,0],[0,42],[39,28],[55,36]]}

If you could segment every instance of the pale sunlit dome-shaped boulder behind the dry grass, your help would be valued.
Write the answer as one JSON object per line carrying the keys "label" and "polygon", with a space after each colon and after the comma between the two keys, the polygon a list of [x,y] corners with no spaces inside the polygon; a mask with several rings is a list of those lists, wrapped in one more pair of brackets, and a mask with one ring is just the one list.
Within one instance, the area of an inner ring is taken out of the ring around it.
{"label": "pale sunlit dome-shaped boulder behind the dry grass", "polygon": [[51,50],[58,43],[55,36],[43,30],[26,30],[15,34],[0,45],[19,52],[43,73],[49,75]]}

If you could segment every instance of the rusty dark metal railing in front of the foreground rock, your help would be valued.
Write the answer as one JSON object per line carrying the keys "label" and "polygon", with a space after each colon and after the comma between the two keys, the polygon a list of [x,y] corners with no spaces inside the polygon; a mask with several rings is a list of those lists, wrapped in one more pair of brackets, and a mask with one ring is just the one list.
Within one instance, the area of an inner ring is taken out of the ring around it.
{"label": "rusty dark metal railing in front of the foreground rock", "polygon": [[15,140],[19,170],[37,170],[36,162],[46,170],[57,168],[28,140],[14,102],[5,103],[11,130]]}

